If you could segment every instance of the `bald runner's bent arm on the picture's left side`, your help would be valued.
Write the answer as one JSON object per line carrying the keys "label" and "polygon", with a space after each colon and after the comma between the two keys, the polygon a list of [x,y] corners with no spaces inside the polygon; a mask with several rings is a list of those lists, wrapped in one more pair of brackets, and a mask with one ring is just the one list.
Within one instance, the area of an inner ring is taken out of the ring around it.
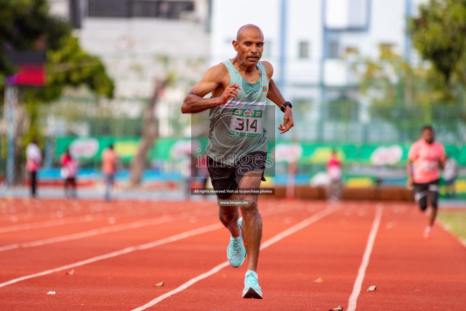
{"label": "bald runner's bent arm on the picture's left side", "polygon": [[227,86],[219,97],[204,98],[204,96],[216,90],[220,85],[223,85],[227,73],[228,71],[223,64],[213,66],[207,70],[202,80],[194,85],[185,97],[181,105],[181,113],[198,113],[226,104],[231,97],[236,98],[238,96],[236,89],[241,89],[238,84]]}

